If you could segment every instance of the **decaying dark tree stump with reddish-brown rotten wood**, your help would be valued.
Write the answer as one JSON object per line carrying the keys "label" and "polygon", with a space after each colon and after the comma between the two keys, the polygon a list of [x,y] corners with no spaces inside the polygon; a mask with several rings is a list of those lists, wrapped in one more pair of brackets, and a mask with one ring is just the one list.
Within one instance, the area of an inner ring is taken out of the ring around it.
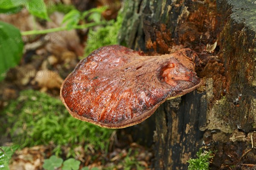
{"label": "decaying dark tree stump with reddish-brown rotten wood", "polygon": [[129,3],[120,43],[148,55],[189,47],[205,82],[154,113],[154,168],[186,170],[202,146],[215,151],[214,170],[256,164],[254,0]]}

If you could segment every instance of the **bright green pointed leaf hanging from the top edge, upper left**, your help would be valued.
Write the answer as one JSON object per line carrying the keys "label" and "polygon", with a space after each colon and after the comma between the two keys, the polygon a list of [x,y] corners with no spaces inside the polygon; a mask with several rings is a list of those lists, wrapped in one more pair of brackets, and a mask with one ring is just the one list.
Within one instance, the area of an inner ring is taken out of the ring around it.
{"label": "bright green pointed leaf hanging from the top edge, upper left", "polygon": [[50,20],[44,0],[26,0],[26,8],[30,14],[45,20]]}

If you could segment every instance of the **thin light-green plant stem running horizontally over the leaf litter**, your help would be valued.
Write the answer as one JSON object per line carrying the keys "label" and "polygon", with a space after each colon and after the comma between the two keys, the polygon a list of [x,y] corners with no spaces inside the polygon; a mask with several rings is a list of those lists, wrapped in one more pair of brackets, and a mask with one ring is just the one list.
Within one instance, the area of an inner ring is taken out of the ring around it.
{"label": "thin light-green plant stem running horizontally over the leaf litter", "polygon": [[[102,25],[105,23],[106,23],[105,21],[100,23],[87,23],[83,25],[74,26],[72,29],[85,29],[92,26]],[[57,27],[57,28],[44,29],[44,30],[31,30],[31,31],[21,32],[21,35],[39,35],[39,34],[47,34],[50,32],[58,32],[58,31],[65,31],[65,30],[70,30],[70,29],[67,29],[67,27]]]}

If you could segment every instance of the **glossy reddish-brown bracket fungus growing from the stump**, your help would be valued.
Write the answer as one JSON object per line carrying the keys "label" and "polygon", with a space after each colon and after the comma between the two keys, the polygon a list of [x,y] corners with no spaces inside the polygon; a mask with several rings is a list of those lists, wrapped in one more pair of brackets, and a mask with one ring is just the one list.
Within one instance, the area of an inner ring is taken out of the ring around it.
{"label": "glossy reddish-brown bracket fungus growing from the stump", "polygon": [[190,49],[143,56],[123,46],[105,46],[79,62],[61,86],[70,114],[101,127],[138,124],[169,98],[201,85]]}

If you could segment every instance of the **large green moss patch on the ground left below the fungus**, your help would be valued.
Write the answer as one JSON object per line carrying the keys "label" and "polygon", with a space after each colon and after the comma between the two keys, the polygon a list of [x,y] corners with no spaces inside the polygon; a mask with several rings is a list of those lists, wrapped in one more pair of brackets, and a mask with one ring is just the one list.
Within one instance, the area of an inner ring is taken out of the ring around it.
{"label": "large green moss patch on the ground left below the fungus", "polygon": [[68,156],[79,145],[107,150],[113,132],[73,118],[59,99],[34,90],[21,91],[0,116],[0,132],[10,135],[12,142],[21,147],[53,144],[57,155],[63,145],[71,148]]}

